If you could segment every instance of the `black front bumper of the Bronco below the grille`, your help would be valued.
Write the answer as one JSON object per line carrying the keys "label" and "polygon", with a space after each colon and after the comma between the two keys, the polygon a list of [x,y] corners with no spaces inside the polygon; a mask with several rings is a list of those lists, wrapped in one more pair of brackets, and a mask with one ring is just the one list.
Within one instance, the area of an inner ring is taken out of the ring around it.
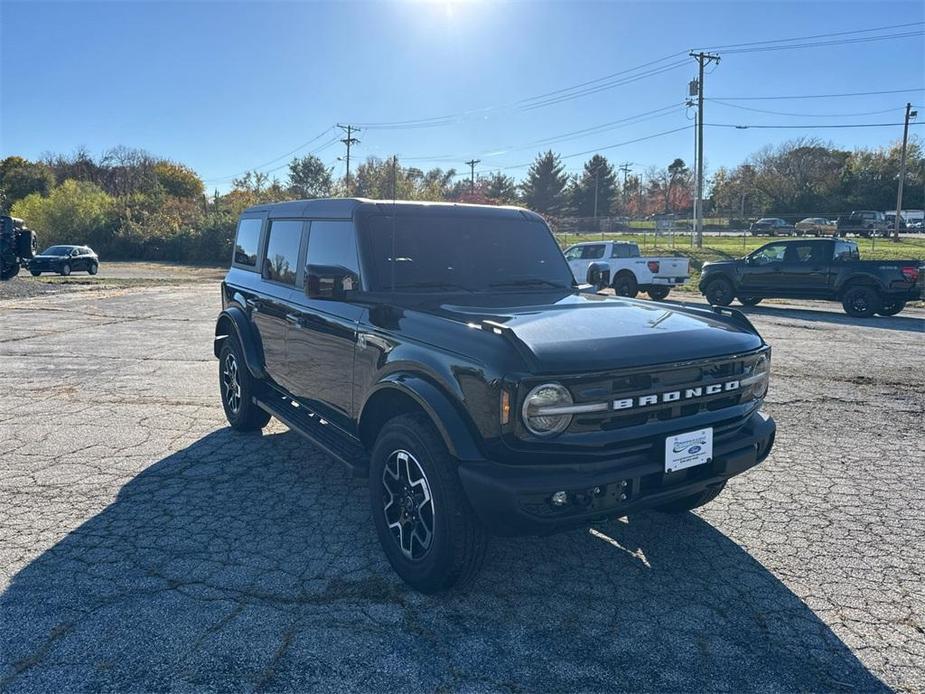
{"label": "black front bumper of the Bronco below the grille", "polygon": [[[755,412],[732,438],[714,444],[713,460],[665,473],[663,455],[631,455],[595,463],[504,465],[466,462],[459,477],[469,503],[497,535],[544,535],[624,516],[722,484],[764,460],[777,427]],[[553,506],[557,491],[569,502]]]}

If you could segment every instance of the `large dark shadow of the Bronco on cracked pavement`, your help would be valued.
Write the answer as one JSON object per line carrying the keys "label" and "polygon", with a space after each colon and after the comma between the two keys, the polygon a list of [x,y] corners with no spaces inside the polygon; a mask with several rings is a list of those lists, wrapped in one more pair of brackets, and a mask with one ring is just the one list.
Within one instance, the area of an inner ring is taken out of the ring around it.
{"label": "large dark shadow of the Bronco on cracked pavement", "polygon": [[224,429],[145,469],[0,595],[0,690],[886,690],[694,514],[497,539],[433,598],[335,466]]}

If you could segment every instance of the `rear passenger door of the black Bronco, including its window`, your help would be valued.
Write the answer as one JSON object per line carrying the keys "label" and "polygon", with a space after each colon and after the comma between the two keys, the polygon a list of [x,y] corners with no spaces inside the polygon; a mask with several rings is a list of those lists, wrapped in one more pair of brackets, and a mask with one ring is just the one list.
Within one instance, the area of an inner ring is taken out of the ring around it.
{"label": "rear passenger door of the black Bronco, including its window", "polygon": [[286,360],[288,317],[292,312],[302,245],[300,219],[273,219],[264,245],[261,289],[249,300],[251,315],[263,345],[267,373],[279,385],[291,388]]}

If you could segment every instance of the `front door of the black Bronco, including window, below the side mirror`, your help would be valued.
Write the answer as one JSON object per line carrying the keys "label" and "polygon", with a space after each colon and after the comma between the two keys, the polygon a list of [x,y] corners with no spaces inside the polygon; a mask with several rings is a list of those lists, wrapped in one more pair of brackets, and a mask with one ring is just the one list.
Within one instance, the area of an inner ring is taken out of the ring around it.
{"label": "front door of the black Bronco, including window, below the side mirror", "polygon": [[[292,394],[307,407],[355,434],[353,362],[363,309],[344,300],[343,286],[319,280],[317,268],[349,271],[358,289],[356,237],[350,221],[312,221],[297,292],[297,319],[289,326],[288,367]],[[310,296],[311,295],[311,296]]]}

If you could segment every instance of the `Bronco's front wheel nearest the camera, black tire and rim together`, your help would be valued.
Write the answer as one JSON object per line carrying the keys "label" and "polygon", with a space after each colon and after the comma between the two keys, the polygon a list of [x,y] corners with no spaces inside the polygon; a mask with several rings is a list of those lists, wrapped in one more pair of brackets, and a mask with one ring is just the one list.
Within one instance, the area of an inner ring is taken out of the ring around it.
{"label": "Bronco's front wheel nearest the camera, black tire and rim together", "polygon": [[399,415],[379,432],[370,460],[369,498],[382,549],[407,584],[437,593],[463,586],[478,574],[488,533],[466,499],[456,460],[425,414]]}

